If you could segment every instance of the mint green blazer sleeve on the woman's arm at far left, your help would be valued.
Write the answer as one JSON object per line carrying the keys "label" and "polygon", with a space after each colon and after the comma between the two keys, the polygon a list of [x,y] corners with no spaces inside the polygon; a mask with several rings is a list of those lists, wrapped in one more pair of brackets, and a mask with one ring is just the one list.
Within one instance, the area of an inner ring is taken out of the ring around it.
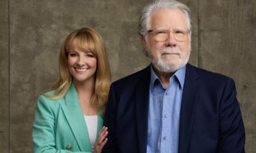
{"label": "mint green blazer sleeve on the woman's arm at far left", "polygon": [[[69,150],[57,150],[55,148],[55,120],[57,107],[55,101],[38,98],[33,121],[33,153],[72,153]],[[63,133],[65,135],[65,133]],[[79,152],[77,152],[79,153]],[[81,152],[91,153],[91,152]]]}

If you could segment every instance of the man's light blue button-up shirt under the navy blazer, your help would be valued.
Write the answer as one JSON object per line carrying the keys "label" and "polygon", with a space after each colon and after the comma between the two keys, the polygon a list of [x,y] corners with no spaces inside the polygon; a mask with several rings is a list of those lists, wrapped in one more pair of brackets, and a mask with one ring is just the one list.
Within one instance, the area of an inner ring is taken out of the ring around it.
{"label": "man's light blue button-up shirt under the navy blazer", "polygon": [[165,88],[151,65],[150,105],[147,127],[147,153],[177,153],[180,106],[186,66],[169,78]]}

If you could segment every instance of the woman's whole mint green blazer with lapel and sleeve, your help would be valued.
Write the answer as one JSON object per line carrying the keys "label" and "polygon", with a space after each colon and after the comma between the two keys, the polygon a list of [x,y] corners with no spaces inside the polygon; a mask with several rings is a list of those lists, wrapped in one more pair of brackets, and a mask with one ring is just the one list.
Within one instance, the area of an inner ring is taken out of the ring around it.
{"label": "woman's whole mint green blazer with lapel and sleeve", "polygon": [[[97,136],[102,122],[99,113]],[[61,99],[48,99],[44,95],[38,97],[32,136],[34,153],[91,152],[87,125],[74,84]]]}

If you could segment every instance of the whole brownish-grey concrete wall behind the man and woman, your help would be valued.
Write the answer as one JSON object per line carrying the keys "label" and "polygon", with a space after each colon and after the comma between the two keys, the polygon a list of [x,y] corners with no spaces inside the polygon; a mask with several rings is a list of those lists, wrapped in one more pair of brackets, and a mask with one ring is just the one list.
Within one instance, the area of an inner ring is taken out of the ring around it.
{"label": "whole brownish-grey concrete wall behind the man and woman", "polygon": [[[63,39],[93,27],[106,40],[112,80],[143,69],[137,22],[151,0],[0,0],[0,148],[32,152],[35,102],[57,76]],[[182,0],[193,13],[190,63],[236,81],[246,152],[256,150],[256,1]]]}

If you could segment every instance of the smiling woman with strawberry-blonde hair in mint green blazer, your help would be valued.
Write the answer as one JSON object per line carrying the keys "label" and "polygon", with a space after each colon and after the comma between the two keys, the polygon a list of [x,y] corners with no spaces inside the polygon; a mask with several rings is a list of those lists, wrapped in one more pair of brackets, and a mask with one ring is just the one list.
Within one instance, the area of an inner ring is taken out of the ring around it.
{"label": "smiling woman with strawberry-blonde hair in mint green blazer", "polygon": [[89,28],[70,33],[59,54],[59,78],[38,98],[33,152],[100,153],[107,141],[102,116],[109,85],[102,37]]}

